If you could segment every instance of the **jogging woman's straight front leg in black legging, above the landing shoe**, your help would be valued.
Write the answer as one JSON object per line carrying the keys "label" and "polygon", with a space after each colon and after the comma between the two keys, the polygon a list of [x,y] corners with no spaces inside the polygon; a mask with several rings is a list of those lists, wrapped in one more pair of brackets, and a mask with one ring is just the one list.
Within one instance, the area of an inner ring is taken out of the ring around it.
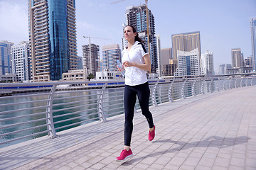
{"label": "jogging woman's straight front leg in black legging, above the landing shoe", "polygon": [[124,86],[124,146],[131,145],[134,118],[134,106],[136,103],[136,91],[132,86]]}

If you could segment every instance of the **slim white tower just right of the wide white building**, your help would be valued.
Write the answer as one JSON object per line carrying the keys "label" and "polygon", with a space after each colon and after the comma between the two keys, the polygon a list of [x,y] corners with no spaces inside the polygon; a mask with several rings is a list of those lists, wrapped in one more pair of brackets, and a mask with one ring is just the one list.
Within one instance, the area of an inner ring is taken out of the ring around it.
{"label": "slim white tower just right of the wide white building", "polygon": [[206,75],[213,75],[214,74],[214,66],[213,66],[213,52],[206,51],[203,53],[201,57],[201,64],[203,73]]}

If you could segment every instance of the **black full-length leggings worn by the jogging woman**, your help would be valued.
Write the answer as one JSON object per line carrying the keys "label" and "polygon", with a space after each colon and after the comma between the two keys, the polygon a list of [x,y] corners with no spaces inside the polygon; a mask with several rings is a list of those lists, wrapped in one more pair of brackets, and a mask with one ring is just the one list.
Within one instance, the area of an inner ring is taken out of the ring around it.
{"label": "black full-length leggings worn by the jogging woman", "polygon": [[131,145],[134,106],[136,103],[136,96],[139,98],[139,105],[142,109],[142,114],[146,117],[149,123],[149,128],[154,128],[152,114],[149,111],[149,83],[139,84],[137,86],[124,86],[124,145]]}

